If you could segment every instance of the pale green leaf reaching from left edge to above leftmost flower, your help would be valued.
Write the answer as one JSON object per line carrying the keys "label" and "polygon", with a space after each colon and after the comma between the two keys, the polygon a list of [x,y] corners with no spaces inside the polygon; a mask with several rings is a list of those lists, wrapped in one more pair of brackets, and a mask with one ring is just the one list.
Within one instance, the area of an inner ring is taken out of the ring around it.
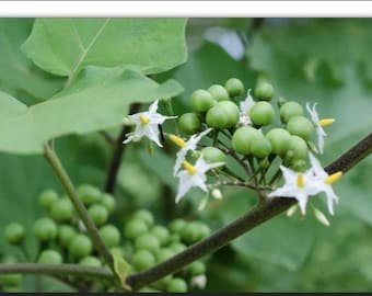
{"label": "pale green leaf reaching from left edge to above leftmost flower", "polygon": [[89,67],[71,88],[31,107],[0,92],[0,150],[42,153],[50,138],[120,125],[133,101],[147,103],[182,90],[174,80],[160,86],[132,70]]}

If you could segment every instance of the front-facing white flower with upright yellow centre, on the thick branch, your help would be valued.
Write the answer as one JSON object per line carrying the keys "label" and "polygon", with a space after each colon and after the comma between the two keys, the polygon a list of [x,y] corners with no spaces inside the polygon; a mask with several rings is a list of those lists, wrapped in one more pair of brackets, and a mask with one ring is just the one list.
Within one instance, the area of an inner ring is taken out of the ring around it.
{"label": "front-facing white flower with upright yellow centre, on the thick branch", "polygon": [[295,172],[283,166],[280,170],[284,177],[284,185],[272,191],[268,197],[294,197],[299,202],[300,209],[303,215],[306,213],[306,204],[310,195],[315,195],[318,191],[313,181],[313,172],[311,170]]}

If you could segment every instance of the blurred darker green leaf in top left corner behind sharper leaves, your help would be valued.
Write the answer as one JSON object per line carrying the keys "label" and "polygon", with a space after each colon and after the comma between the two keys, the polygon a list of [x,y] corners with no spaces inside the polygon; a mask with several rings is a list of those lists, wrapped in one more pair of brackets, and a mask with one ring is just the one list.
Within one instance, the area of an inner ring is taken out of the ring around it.
{"label": "blurred darker green leaf in top left corner behind sharper leaves", "polygon": [[0,19],[0,90],[32,104],[59,91],[65,79],[44,72],[20,47],[31,33],[33,19]]}

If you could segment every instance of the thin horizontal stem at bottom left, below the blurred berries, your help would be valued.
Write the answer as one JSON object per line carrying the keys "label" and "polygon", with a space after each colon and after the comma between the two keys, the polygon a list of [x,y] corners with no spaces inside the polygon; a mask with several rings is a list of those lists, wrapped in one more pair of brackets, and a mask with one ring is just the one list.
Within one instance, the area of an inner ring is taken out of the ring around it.
{"label": "thin horizontal stem at bottom left, below the blurred berries", "polygon": [[81,275],[115,280],[114,274],[104,267],[83,266],[78,264],[39,264],[39,263],[0,263],[0,274],[27,273],[48,275]]}

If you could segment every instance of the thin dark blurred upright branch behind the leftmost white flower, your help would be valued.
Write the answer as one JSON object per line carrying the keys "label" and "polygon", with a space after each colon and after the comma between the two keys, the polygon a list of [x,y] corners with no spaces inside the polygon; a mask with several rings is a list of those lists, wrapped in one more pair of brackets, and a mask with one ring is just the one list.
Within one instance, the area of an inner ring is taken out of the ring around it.
{"label": "thin dark blurred upright branch behind the leftmost white flower", "polygon": [[[131,104],[129,114],[138,113],[140,109],[140,104]],[[114,148],[113,158],[109,163],[109,169],[106,177],[105,187],[104,191],[107,193],[114,193],[115,184],[116,184],[116,177],[120,168],[121,158],[125,151],[125,145],[123,141],[126,139],[126,135],[130,132],[130,126],[124,126],[119,137],[116,139],[116,145]]]}

